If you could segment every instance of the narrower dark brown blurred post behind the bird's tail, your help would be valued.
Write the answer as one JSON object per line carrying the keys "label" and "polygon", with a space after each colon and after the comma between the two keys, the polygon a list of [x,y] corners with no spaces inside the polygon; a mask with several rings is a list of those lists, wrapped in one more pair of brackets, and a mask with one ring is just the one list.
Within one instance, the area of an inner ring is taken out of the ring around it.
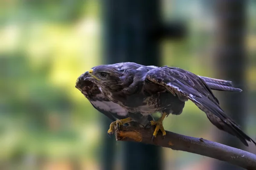
{"label": "narrower dark brown blurred post behind the bird's tail", "polygon": [[[216,1],[217,17],[217,51],[215,54],[216,72],[219,78],[233,81],[243,89],[242,93],[221,93],[221,106],[227,114],[245,128],[247,115],[247,91],[245,85],[245,0]],[[235,137],[218,130],[218,142],[232,147],[243,148],[244,145]],[[240,170],[227,163],[216,164],[216,170]]]}

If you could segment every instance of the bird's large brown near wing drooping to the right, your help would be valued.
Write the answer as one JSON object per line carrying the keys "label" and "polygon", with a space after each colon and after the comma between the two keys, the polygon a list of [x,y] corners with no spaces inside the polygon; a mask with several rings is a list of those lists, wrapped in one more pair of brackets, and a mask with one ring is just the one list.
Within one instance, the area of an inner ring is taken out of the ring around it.
{"label": "bird's large brown near wing drooping to the right", "polygon": [[154,68],[145,75],[144,85],[150,85],[152,82],[163,86],[179,98],[186,98],[194,102],[198,108],[207,114],[213,125],[237,136],[246,146],[248,146],[246,141],[256,144],[224,113],[209,86],[197,75],[180,68]]}

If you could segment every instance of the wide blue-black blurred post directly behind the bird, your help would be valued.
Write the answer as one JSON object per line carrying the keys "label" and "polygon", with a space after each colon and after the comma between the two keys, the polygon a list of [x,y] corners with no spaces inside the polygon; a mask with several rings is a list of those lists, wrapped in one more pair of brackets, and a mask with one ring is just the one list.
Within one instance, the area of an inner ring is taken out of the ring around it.
{"label": "wide blue-black blurred post directly behind the bird", "polygon": [[[151,38],[152,32],[160,22],[158,1],[104,0],[103,3],[106,62],[129,61],[143,65],[158,65],[160,54],[157,41]],[[109,125],[109,121],[106,123]],[[104,169],[112,170],[111,149],[114,149],[114,145],[112,139],[107,140],[109,141],[104,147],[104,162],[107,166],[104,165]],[[161,151],[156,146],[126,142],[122,151],[124,170],[161,169]]]}

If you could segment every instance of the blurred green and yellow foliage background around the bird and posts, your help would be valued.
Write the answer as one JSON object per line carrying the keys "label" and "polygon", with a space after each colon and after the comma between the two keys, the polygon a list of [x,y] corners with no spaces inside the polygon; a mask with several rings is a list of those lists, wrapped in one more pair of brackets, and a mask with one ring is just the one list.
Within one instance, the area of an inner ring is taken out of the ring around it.
{"label": "blurred green and yellow foliage background around the bird and posts", "polygon": [[[125,10],[127,2],[119,0],[116,8]],[[150,0],[141,2],[140,8],[143,8],[148,6]],[[220,8],[216,4],[210,0],[159,2],[161,22],[170,27],[176,24],[174,30],[177,32],[171,31],[172,36],[165,38],[163,35],[161,41],[156,40],[159,45],[156,65],[176,66],[202,76],[229,78],[237,82],[237,86],[243,86],[244,95],[233,94],[234,100],[242,97],[242,111],[235,116],[233,113],[227,114],[235,117],[244,131],[256,139],[256,2],[241,2],[244,4],[242,13],[246,21],[242,23],[245,34],[241,43],[245,54],[234,58],[234,61],[231,59],[232,62],[224,62],[226,66],[243,65],[238,67],[238,71],[242,71],[239,79],[236,79],[236,71],[233,75],[222,72],[225,65],[221,67],[221,59],[216,53],[215,47],[222,36],[218,31],[224,27],[218,24],[218,20],[227,17],[218,15]],[[106,27],[111,28],[108,26],[111,15],[107,14],[110,12],[108,10],[115,10],[110,3],[115,2],[0,1],[1,170],[100,170],[106,169],[105,160],[111,161],[113,168],[125,169],[123,162],[131,156],[123,152],[125,144],[106,137],[107,118],[96,111],[75,88],[77,77],[84,71],[113,61],[105,55],[109,42],[106,40],[109,31]],[[226,5],[223,8],[232,10]],[[121,10],[112,12],[112,15],[119,16],[118,11]],[[241,17],[239,14],[233,17]],[[130,19],[128,16],[122,20]],[[154,17],[149,20],[153,21]],[[112,24],[114,26],[116,23]],[[186,31],[183,33],[181,29]],[[154,35],[158,38],[162,32],[157,31]],[[120,54],[120,57],[122,55],[126,54]],[[225,99],[230,99],[225,98],[228,95],[226,92],[215,94],[220,97],[221,103],[225,104]],[[230,110],[228,106],[223,107]],[[227,134],[219,132],[192,102],[186,103],[180,116],[165,119],[164,127],[175,133],[225,144],[239,143],[238,139],[229,136],[228,142],[222,140]],[[106,153],[105,147],[109,143],[115,150]],[[252,144],[249,147],[235,146],[256,153]],[[160,150],[162,160],[159,157],[154,159],[163,165],[163,170],[218,170],[224,164],[192,153],[166,148],[157,150]]]}

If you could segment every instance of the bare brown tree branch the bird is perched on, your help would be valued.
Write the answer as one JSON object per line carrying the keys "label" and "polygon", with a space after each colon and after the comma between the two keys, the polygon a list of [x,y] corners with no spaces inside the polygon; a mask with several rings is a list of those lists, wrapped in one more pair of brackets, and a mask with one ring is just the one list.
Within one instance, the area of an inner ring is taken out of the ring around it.
{"label": "bare brown tree branch the bird is perched on", "polygon": [[116,141],[141,142],[169,147],[172,150],[182,150],[226,161],[247,170],[256,170],[256,155],[253,153],[206,139],[184,136],[169,131],[166,131],[165,139],[161,135],[157,135],[157,138],[152,142],[153,132],[153,128],[121,126],[119,130],[115,131],[115,136]]}

